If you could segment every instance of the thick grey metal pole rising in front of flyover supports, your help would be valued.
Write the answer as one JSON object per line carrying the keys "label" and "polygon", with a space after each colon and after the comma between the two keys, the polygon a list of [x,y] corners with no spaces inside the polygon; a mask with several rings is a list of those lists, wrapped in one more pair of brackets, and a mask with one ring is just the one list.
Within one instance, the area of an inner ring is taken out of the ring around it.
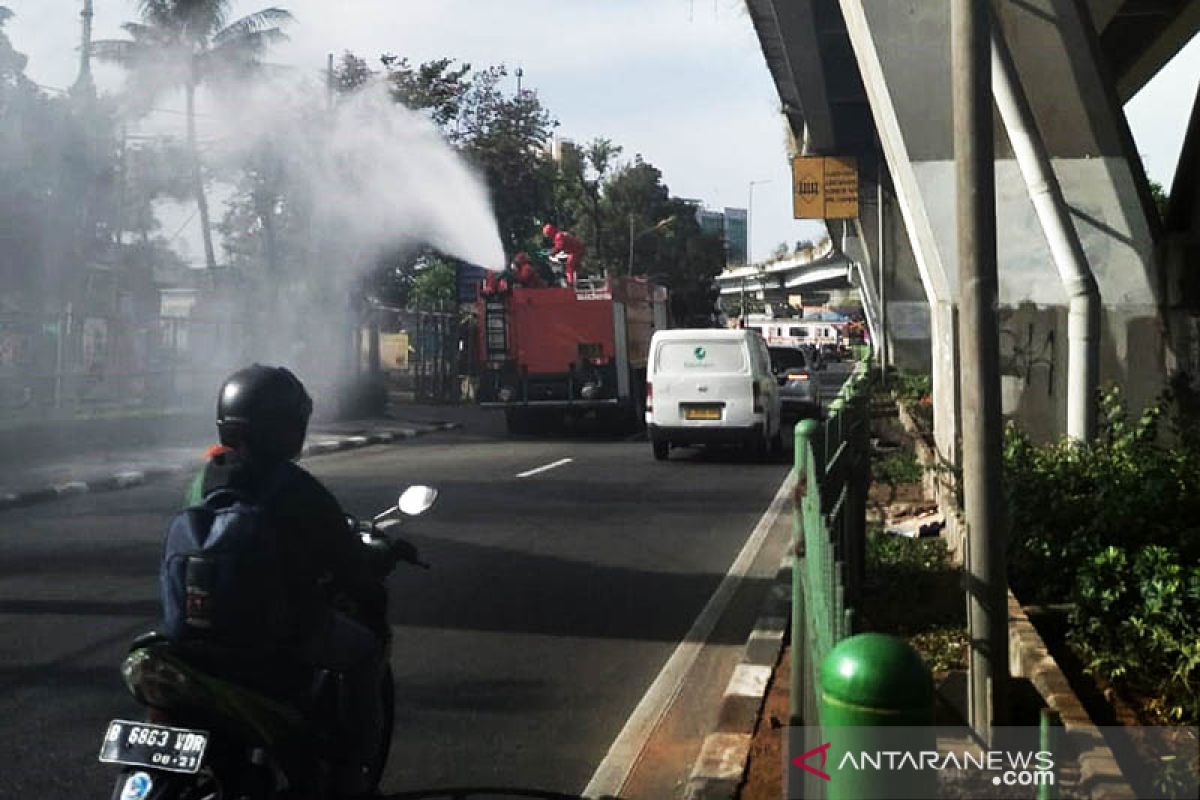
{"label": "thick grey metal pole rising in front of flyover supports", "polygon": [[989,0],[952,0],[958,196],[962,488],[967,522],[971,727],[992,742],[1008,717],[1008,585],[1001,492],[996,174]]}

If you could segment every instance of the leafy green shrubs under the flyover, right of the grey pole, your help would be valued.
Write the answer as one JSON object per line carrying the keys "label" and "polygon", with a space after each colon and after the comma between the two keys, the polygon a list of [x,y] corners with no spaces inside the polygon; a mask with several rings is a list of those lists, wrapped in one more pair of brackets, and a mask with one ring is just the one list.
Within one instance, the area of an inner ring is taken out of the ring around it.
{"label": "leafy green shrubs under the flyover, right of the grey pole", "polygon": [[[1070,640],[1090,668],[1194,723],[1200,449],[1164,435],[1169,401],[1132,419],[1118,390],[1104,392],[1100,434],[1086,446],[1036,446],[1008,427],[1009,576],[1025,602],[1074,603]],[[1172,422],[1190,427],[1178,413]]]}

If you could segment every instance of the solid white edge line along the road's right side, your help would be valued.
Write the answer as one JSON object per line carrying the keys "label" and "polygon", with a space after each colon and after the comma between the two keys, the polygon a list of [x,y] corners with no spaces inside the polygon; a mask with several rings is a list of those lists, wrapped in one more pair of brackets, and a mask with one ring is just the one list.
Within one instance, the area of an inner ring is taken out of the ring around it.
{"label": "solid white edge line along the road's right side", "polygon": [[584,798],[620,796],[625,781],[629,780],[630,772],[634,771],[634,766],[637,764],[642,750],[649,741],[650,734],[654,733],[659,722],[662,721],[662,717],[666,716],[667,710],[679,696],[688,670],[691,669],[696,657],[700,656],[701,649],[703,649],[713,628],[716,627],[716,621],[721,618],[726,606],[733,599],[733,594],[750,571],[755,558],[758,555],[758,551],[762,548],[763,541],[767,539],[767,534],[770,533],[772,525],[775,524],[775,521],[784,513],[784,510],[791,501],[792,487],[796,483],[794,475],[796,471],[792,470],[784,479],[784,482],[779,486],[779,491],[775,493],[775,498],[770,501],[767,511],[763,512],[762,518],[758,519],[758,524],[755,525],[746,543],[742,547],[742,552],[738,553],[738,558],[734,559],[730,566],[730,571],[721,579],[720,585],[716,587],[716,591],[708,599],[708,604],[700,612],[700,616],[691,624],[691,628],[684,636],[683,642],[679,643],[674,652],[671,654],[671,657],[667,658],[658,678],[646,690],[646,694],[642,696],[637,708],[634,709],[629,720],[625,721],[625,727],[622,728],[612,746],[608,747],[608,753],[600,762],[600,766],[596,768],[592,780],[588,781],[587,788],[583,789]]}

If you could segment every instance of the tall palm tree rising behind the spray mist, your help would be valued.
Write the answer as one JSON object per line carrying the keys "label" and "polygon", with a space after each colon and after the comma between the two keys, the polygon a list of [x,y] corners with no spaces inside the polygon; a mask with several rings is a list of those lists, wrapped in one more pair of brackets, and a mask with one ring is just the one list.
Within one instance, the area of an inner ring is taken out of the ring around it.
{"label": "tall palm tree rising behind the spray mist", "polygon": [[228,22],[230,5],[230,0],[139,0],[142,22],[121,25],[130,38],[92,43],[96,58],[137,74],[134,101],[148,103],[163,91],[184,89],[192,188],[210,270],[216,267],[216,254],[196,143],[196,90],[202,83],[252,72],[266,47],[286,38],[281,25],[292,20],[289,12],[272,7]]}

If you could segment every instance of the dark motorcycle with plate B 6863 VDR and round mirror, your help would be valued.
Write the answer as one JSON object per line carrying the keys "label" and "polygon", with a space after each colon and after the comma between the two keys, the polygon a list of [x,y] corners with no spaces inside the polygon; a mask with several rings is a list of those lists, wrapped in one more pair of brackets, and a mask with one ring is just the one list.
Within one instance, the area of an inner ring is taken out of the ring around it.
{"label": "dark motorcycle with plate B 6863 VDR and round mirror", "polygon": [[[404,517],[418,517],[437,489],[410,486],[372,519],[347,517],[366,547],[428,569],[416,548],[390,537]],[[380,579],[354,600],[334,604],[391,644],[386,589]],[[331,786],[338,714],[338,675],[301,664],[247,658],[212,643],[176,643],[158,632],[138,637],[121,666],[125,685],[145,718],[113,720],[100,760],[121,766],[113,800],[325,800]],[[379,686],[383,742],[371,765],[378,786],[391,746],[391,667]]]}

